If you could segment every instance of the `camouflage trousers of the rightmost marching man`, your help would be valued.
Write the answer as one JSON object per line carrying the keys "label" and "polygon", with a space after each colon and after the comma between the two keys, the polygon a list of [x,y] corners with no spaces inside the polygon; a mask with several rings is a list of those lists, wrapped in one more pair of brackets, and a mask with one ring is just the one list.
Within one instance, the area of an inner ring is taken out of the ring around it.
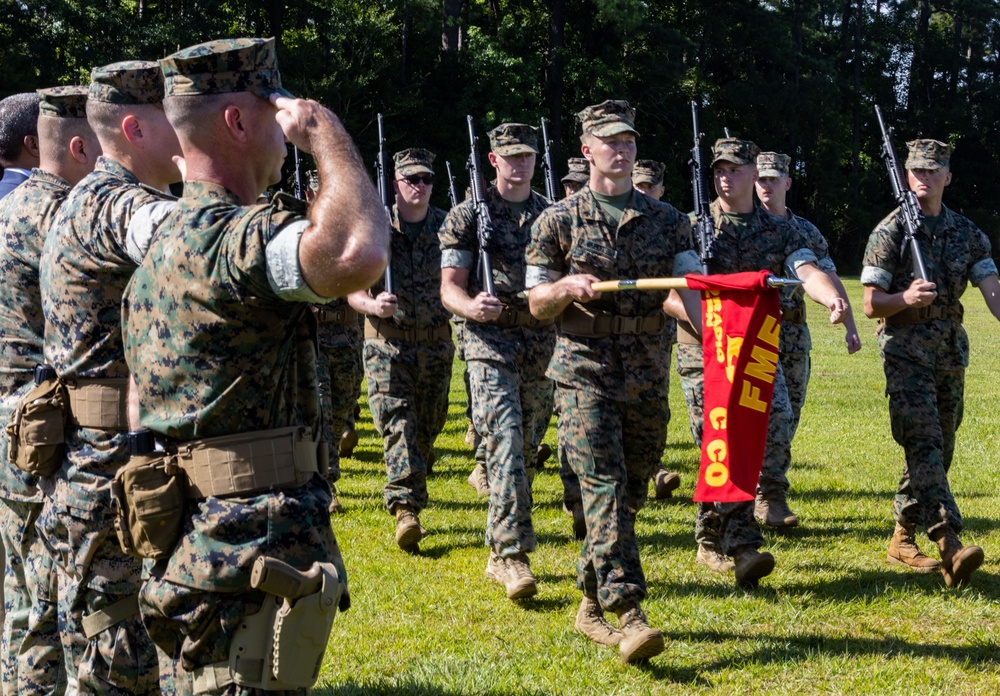
{"label": "camouflage trousers of the rightmost marching man", "polygon": [[962,515],[948,485],[955,432],[962,424],[965,370],[935,370],[883,354],[892,437],[906,463],[893,499],[897,522],[962,529]]}

